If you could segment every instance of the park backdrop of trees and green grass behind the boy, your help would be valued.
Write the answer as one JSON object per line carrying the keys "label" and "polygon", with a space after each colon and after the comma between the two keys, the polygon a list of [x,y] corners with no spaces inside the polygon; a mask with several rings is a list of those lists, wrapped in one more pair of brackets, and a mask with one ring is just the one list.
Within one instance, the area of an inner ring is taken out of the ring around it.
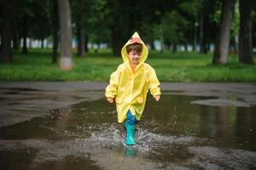
{"label": "park backdrop of trees and green grass behind the boy", "polygon": [[255,82],[253,0],[3,0],[1,81],[99,81],[137,31],[161,82]]}

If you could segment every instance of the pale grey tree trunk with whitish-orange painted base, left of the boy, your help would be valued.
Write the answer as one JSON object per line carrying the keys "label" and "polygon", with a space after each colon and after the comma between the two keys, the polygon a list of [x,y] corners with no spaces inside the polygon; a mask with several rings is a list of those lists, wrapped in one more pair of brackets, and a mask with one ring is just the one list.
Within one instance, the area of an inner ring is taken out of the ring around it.
{"label": "pale grey tree trunk with whitish-orange painted base, left of the boy", "polygon": [[58,0],[61,26],[61,70],[70,70],[72,61],[72,27],[68,0]]}

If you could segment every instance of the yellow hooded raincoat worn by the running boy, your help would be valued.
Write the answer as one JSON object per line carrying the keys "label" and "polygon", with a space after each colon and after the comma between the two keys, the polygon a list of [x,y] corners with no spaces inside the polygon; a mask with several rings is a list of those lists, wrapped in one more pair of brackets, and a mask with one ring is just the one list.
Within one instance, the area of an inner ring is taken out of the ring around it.
{"label": "yellow hooded raincoat worn by the running boy", "polygon": [[[143,44],[143,51],[136,70],[132,72],[125,47],[134,42]],[[121,54],[124,63],[120,64],[117,70],[111,74],[110,83],[106,88],[105,95],[107,98],[115,98],[118,122],[125,121],[129,109],[131,114],[136,115],[137,120],[140,120],[143,115],[148,88],[153,96],[160,95],[160,82],[156,77],[154,69],[144,63],[148,57],[148,48],[137,32],[125,43]]]}

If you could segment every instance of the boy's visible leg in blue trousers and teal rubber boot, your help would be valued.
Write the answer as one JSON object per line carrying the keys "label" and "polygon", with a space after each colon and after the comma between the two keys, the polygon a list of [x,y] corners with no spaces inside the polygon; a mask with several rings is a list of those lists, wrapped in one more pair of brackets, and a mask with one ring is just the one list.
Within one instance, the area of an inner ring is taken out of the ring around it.
{"label": "boy's visible leg in blue trousers and teal rubber boot", "polygon": [[127,112],[127,118],[125,121],[126,144],[127,145],[135,144],[134,132],[135,132],[136,123],[137,123],[136,116],[131,115],[131,111],[129,110]]}

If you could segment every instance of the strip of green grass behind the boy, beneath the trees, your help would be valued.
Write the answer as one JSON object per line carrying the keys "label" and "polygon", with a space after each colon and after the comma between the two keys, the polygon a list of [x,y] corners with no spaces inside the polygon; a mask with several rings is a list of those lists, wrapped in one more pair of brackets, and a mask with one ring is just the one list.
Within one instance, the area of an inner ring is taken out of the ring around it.
{"label": "strip of green grass behind the boy, beneath the trees", "polygon": [[[15,52],[13,64],[0,64],[0,81],[108,81],[123,61],[105,49],[83,58],[74,55],[73,70],[61,71],[59,64],[50,63],[50,49],[29,52]],[[212,54],[150,51],[146,62],[161,82],[256,82],[256,65],[239,64],[236,55],[230,55],[226,65],[211,65]]]}

